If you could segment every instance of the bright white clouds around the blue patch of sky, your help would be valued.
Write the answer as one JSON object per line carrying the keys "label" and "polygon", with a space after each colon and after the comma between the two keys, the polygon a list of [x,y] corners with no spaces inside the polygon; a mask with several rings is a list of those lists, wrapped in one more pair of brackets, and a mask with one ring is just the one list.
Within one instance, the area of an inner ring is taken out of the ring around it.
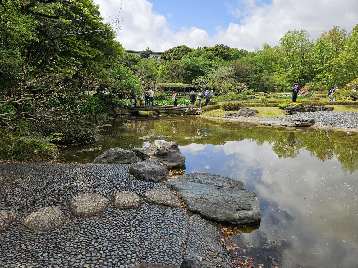
{"label": "bright white clouds around the blue patch of sky", "polygon": [[[122,0],[122,3],[95,0],[95,3],[100,4],[103,17],[118,14],[122,8],[122,29],[117,40],[125,49],[133,50],[149,46],[154,51],[162,51],[183,44],[192,48],[226,44],[252,50],[262,43],[277,45],[288,30],[304,28],[312,38],[336,25],[351,31],[358,18],[358,1],[352,0],[272,0],[270,4],[260,5],[255,0],[246,0],[238,1],[237,6],[227,5],[228,13],[240,17],[240,23],[217,27],[217,33],[209,36],[206,30],[195,25],[171,30],[165,15],[155,13],[153,4],[147,0]],[[170,14],[166,16],[170,18]]]}

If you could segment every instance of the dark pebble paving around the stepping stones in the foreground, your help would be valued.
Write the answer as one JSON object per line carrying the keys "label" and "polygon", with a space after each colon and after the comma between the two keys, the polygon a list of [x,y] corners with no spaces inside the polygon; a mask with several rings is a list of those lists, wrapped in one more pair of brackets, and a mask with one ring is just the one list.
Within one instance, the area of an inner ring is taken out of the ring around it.
{"label": "dark pebble paving around the stepping stones in the foreground", "polygon": [[[179,266],[189,257],[204,267],[233,267],[221,245],[219,227],[183,208],[144,203],[118,210],[111,195],[128,190],[143,200],[147,191],[169,189],[162,183],[132,178],[130,165],[0,163],[0,207],[17,220],[0,233],[0,267],[118,267],[161,263]],[[88,218],[74,218],[67,201],[98,193],[109,208]],[[26,215],[57,206],[66,215],[58,229],[32,232],[21,228]]]}

